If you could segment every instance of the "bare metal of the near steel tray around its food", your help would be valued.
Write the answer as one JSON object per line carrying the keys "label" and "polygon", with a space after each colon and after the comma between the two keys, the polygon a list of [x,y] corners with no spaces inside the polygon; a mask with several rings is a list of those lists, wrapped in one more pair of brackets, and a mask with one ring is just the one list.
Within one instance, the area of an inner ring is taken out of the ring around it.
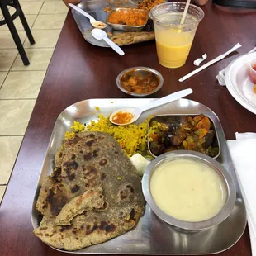
{"label": "bare metal of the near steel tray around its food", "polygon": [[[32,225],[36,229],[40,221],[40,213],[36,210],[36,200],[40,186],[45,176],[52,173],[52,163],[55,154],[59,151],[65,131],[73,124],[73,121],[88,123],[97,121],[98,114],[104,116],[112,111],[124,107],[140,107],[154,99],[91,99],[77,102],[61,112],[55,122],[55,127],[50,137],[50,143],[45,155],[45,161],[37,184],[36,195],[31,211]],[[97,111],[97,107],[100,111]],[[231,215],[220,225],[199,232],[180,232],[173,228],[150,211],[146,206],[145,215],[140,218],[134,230],[124,235],[108,240],[103,244],[92,245],[85,249],[74,251],[74,254],[216,254],[229,249],[244,233],[246,225],[246,211],[244,199],[241,195],[236,178],[235,169],[232,164],[229,149],[226,144],[224,131],[216,114],[201,103],[188,99],[181,99],[168,103],[150,111],[145,111],[140,116],[138,123],[145,121],[149,115],[194,115],[204,114],[211,118],[216,133],[220,140],[221,154],[216,159],[227,169],[235,182],[236,203]],[[60,250],[66,252],[64,250]],[[68,253],[68,252],[67,252]],[[71,252],[70,252],[71,253]]]}

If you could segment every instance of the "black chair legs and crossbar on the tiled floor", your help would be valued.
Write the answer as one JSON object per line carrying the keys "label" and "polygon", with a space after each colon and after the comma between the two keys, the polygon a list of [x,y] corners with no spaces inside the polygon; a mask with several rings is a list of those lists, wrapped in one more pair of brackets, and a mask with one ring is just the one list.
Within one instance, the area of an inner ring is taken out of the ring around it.
{"label": "black chair legs and crossbar on the tiled floor", "polygon": [[[12,16],[8,10],[8,6],[16,9],[16,12],[14,12],[14,14],[12,14]],[[21,55],[23,64],[25,66],[27,66],[30,64],[30,62],[27,59],[26,52],[21,43],[20,36],[17,33],[17,29],[13,24],[13,20],[16,19],[17,17],[20,17],[21,23],[24,27],[24,30],[26,31],[26,36],[28,37],[28,40],[30,41],[31,45],[35,44],[35,40],[31,34],[30,27],[28,26],[28,24],[26,22],[26,18],[21,9],[21,5],[18,0],[0,0],[0,8],[2,10],[2,15],[4,17],[4,19],[2,21],[0,21],[0,26],[7,24],[7,26],[9,27],[9,30],[12,34],[12,38],[17,46],[17,50],[19,51],[19,53]]]}

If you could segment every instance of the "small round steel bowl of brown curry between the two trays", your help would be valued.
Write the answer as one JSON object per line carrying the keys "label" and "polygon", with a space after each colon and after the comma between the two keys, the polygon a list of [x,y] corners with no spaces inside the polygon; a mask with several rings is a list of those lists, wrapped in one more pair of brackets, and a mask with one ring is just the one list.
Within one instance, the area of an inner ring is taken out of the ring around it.
{"label": "small round steel bowl of brown curry between the two trays", "polygon": [[147,67],[135,67],[122,71],[116,78],[117,87],[134,97],[146,97],[159,91],[164,78],[158,71]]}

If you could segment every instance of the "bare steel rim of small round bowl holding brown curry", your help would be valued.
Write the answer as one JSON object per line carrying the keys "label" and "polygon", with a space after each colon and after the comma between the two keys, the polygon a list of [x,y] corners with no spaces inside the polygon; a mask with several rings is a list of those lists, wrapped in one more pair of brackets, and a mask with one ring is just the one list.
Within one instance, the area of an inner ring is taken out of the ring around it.
{"label": "bare steel rim of small round bowl holding brown curry", "polygon": [[[127,91],[125,88],[122,87],[121,85],[121,78],[124,74],[130,72],[130,70],[134,70],[134,74],[135,75],[140,75],[140,76],[144,76],[146,73],[154,73],[158,78],[159,78],[159,85],[157,88],[155,88],[152,92],[147,92],[147,93],[135,93],[135,92],[129,92]],[[126,94],[130,95],[130,96],[134,96],[134,97],[146,97],[149,96],[151,94],[154,94],[155,92],[159,91],[160,88],[162,88],[164,83],[164,78],[161,75],[161,73],[159,73],[158,71],[156,71],[155,69],[151,69],[151,68],[147,68],[147,67],[134,67],[134,68],[130,68],[130,69],[125,69],[124,71],[122,71],[121,73],[119,73],[119,75],[116,78],[116,85],[117,87],[122,91],[125,92]]]}

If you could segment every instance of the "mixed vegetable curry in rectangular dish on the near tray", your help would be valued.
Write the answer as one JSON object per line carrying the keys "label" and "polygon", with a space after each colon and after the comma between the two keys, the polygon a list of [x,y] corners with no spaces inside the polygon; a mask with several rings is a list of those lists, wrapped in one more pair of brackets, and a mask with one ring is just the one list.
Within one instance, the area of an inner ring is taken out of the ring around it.
{"label": "mixed vegetable curry in rectangular dish on the near tray", "polygon": [[207,116],[155,116],[149,126],[149,149],[155,156],[178,149],[219,154],[215,127]]}

